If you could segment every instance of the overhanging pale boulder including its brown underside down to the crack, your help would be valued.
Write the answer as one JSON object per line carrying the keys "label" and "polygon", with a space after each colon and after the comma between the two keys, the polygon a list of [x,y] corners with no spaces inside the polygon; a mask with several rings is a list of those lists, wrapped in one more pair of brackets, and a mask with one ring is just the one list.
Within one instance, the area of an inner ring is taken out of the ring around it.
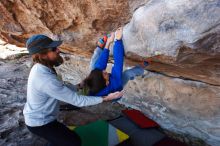
{"label": "overhanging pale boulder including its brown underside down to the crack", "polygon": [[124,28],[127,57],[155,56],[148,69],[220,85],[220,1],[153,0]]}

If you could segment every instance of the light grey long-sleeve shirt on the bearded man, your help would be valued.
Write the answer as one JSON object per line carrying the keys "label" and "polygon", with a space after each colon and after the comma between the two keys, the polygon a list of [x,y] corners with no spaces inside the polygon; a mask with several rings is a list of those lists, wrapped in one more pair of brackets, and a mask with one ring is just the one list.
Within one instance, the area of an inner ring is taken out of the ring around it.
{"label": "light grey long-sleeve shirt on the bearded man", "polygon": [[78,95],[58,80],[50,68],[35,64],[28,78],[27,102],[23,114],[28,126],[42,126],[58,116],[59,100],[82,107],[103,102],[102,97]]}

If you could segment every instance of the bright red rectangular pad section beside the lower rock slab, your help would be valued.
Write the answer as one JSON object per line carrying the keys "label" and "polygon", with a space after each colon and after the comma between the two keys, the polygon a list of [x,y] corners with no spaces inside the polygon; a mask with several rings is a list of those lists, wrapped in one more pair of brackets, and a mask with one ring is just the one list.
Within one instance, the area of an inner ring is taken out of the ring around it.
{"label": "bright red rectangular pad section beside the lower rock slab", "polygon": [[125,114],[131,121],[137,124],[140,128],[153,128],[160,127],[155,121],[146,117],[142,112],[130,109],[122,110],[122,113]]}

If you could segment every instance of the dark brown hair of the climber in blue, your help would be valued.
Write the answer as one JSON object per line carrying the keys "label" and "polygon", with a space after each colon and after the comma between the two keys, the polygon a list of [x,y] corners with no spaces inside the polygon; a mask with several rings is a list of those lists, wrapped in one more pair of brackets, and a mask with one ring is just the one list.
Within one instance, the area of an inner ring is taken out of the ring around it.
{"label": "dark brown hair of the climber in blue", "polygon": [[89,76],[84,80],[84,84],[89,88],[89,92],[92,95],[97,94],[106,87],[106,81],[103,77],[103,73],[99,69],[92,70]]}

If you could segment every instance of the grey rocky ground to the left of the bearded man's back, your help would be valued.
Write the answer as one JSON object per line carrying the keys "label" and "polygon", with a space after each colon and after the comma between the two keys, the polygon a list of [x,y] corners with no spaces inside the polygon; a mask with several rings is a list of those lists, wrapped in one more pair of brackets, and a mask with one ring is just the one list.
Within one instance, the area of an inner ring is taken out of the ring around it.
{"label": "grey rocky ground to the left of the bearded man's back", "polygon": [[0,60],[0,145],[18,145],[32,138],[22,114],[29,72],[26,60]]}

